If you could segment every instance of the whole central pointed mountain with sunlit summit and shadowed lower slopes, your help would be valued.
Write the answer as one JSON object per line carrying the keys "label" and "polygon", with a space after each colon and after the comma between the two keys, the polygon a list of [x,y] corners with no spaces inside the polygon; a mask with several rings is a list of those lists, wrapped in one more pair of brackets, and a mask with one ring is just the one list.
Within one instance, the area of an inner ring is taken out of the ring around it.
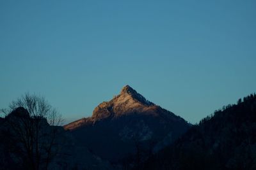
{"label": "whole central pointed mountain with sunlit summit and shadowed lower slopes", "polygon": [[166,136],[172,143],[189,127],[183,118],[148,101],[129,85],[111,101],[99,104],[92,117],[64,126],[76,138],[77,145],[118,163],[141,162],[155,146],[156,150],[163,147],[157,143]]}

